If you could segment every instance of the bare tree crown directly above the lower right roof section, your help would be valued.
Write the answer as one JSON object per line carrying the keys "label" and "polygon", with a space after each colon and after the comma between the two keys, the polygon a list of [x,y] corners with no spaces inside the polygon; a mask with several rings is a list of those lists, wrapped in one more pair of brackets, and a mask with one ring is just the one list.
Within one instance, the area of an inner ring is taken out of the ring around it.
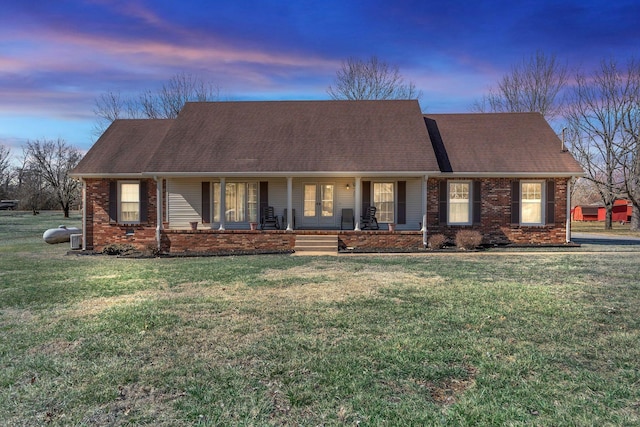
{"label": "bare tree crown directly above the lower right roof section", "polygon": [[536,52],[511,67],[496,89],[476,101],[472,110],[478,112],[539,112],[547,120],[561,113],[562,92],[567,84],[567,67],[555,55]]}

